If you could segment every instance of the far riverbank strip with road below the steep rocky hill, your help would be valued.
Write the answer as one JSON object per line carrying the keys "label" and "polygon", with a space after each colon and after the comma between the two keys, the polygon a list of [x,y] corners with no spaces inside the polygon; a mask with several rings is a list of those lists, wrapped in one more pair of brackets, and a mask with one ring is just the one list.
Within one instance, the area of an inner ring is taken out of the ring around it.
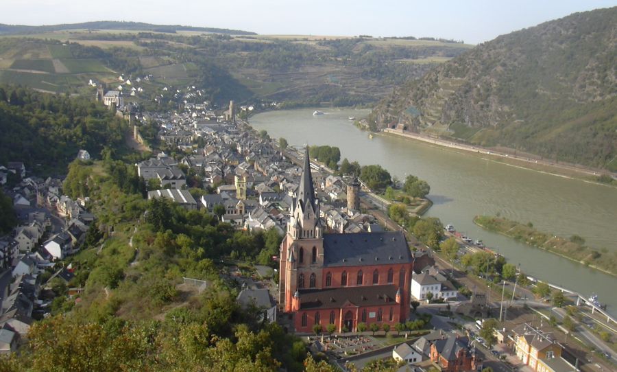
{"label": "far riverbank strip with road below the steep rocky hill", "polygon": [[[591,168],[581,167],[579,165],[572,165],[566,163],[555,163],[553,161],[546,161],[544,159],[534,159],[527,156],[519,156],[516,154],[507,154],[505,152],[497,152],[492,149],[481,148],[479,146],[470,146],[465,143],[458,143],[453,141],[447,141],[435,137],[428,137],[425,135],[418,135],[412,132],[403,132],[402,130],[384,128],[383,133],[387,135],[394,135],[397,137],[403,137],[405,139],[413,139],[416,141],[422,141],[425,143],[432,143],[433,145],[451,148],[454,150],[462,150],[467,153],[476,154],[481,156],[482,159],[496,161],[513,167],[521,167],[528,170],[534,170],[545,174],[551,174],[553,176],[559,176],[570,179],[579,179],[583,182],[594,183],[596,185],[604,185],[609,187],[617,187],[616,181],[613,183],[599,182],[598,178],[603,174],[610,174],[605,170],[594,170]],[[503,149],[502,149],[503,150]],[[531,155],[529,155],[531,156]],[[617,176],[616,174],[611,174]]]}

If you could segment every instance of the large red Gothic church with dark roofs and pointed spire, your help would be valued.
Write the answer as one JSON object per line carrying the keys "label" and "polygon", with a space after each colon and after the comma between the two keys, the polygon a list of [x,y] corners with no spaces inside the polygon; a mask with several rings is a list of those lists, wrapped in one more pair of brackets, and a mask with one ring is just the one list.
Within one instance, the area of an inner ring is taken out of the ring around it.
{"label": "large red Gothic church with dark roofs and pointed spire", "polygon": [[412,268],[402,231],[324,233],[307,148],[280,245],[279,305],[292,316],[295,332],[329,324],[356,332],[358,323],[406,321]]}

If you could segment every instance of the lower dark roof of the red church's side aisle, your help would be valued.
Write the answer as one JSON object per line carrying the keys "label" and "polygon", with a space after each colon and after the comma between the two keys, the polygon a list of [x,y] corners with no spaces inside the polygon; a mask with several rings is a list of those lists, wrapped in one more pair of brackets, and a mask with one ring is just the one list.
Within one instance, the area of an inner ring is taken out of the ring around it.
{"label": "lower dark roof of the red church's side aisle", "polygon": [[347,301],[357,306],[396,305],[398,288],[386,286],[358,286],[325,288],[321,290],[299,290],[300,309],[339,308]]}

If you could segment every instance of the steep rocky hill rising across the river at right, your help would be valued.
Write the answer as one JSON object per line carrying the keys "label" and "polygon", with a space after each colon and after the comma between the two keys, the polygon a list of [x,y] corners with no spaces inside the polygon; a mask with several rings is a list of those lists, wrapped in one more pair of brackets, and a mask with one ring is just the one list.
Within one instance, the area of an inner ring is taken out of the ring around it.
{"label": "steep rocky hill rising across the river at right", "polygon": [[499,36],[402,84],[372,119],[615,171],[616,46],[617,8],[575,13]]}

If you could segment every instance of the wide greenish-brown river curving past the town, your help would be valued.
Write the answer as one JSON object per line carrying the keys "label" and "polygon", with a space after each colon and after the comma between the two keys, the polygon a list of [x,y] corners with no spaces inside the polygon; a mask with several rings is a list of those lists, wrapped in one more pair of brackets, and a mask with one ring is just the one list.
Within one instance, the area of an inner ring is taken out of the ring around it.
{"label": "wide greenish-brown river curving past the town", "polygon": [[520,244],[476,226],[478,214],[532,222],[540,231],[564,237],[581,235],[588,245],[617,250],[617,189],[505,165],[465,152],[402,139],[374,135],[355,128],[348,117],[363,117],[368,110],[320,108],[270,111],[251,117],[257,130],[272,138],[284,137],[290,146],[330,145],[341,149],[341,159],[361,165],[379,164],[404,180],[414,174],[431,185],[435,203],[425,216],[453,224],[457,231],[483,240],[523,272],[576,290],[587,297],[598,294],[608,311],[617,314],[617,277],[606,275]]}

